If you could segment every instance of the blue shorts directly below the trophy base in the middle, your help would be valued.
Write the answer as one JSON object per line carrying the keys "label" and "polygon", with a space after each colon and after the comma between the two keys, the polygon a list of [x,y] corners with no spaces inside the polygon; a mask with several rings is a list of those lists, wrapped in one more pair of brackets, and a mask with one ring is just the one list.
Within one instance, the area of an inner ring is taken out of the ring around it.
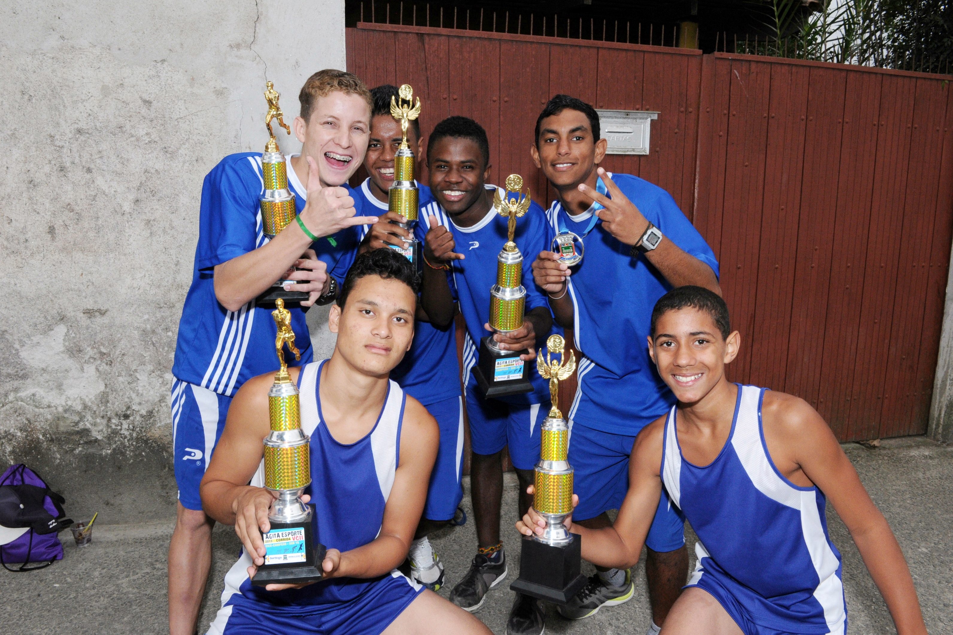
{"label": "blue shorts directly below the trophy base in the middle", "polygon": [[476,388],[476,377],[467,382],[467,417],[470,420],[470,445],[475,454],[496,454],[510,447],[510,459],[520,470],[531,470],[539,461],[539,426],[546,419],[550,402],[513,404],[498,399],[483,399]]}

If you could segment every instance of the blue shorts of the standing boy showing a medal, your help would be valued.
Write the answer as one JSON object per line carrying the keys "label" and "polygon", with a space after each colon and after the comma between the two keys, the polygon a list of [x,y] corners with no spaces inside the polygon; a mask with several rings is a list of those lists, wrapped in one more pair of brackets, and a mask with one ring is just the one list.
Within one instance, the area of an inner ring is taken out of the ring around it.
{"label": "blue shorts of the standing boy showing a medal", "polygon": [[[573,520],[586,521],[610,509],[618,509],[629,489],[629,457],[635,436],[617,435],[572,422],[569,434],[569,464],[576,470],[574,487],[579,504]],[[685,518],[665,489],[649,528],[645,546],[653,551],[675,551],[685,544]]]}

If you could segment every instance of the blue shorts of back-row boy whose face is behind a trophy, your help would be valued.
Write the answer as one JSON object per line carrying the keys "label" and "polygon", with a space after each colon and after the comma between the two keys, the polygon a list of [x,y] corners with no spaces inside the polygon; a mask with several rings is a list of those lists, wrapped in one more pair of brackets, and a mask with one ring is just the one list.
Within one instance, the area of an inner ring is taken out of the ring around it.
{"label": "blue shorts of back-row boy whose face is behind a trophy", "polygon": [[449,521],[454,518],[456,506],[463,498],[460,484],[463,476],[463,398],[443,399],[424,407],[440,426],[440,447],[430,475],[423,517],[431,521]]}

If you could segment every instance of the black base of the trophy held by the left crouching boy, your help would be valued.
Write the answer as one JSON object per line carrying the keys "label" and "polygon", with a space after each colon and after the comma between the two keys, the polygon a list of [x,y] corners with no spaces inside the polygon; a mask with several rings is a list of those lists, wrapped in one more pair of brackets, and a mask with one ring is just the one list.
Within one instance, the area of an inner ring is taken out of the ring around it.
{"label": "black base of the trophy held by the left crouching boy", "polygon": [[[266,560],[274,559],[278,562],[259,566],[252,578],[253,586],[313,583],[324,577],[321,564],[324,563],[328,550],[317,540],[317,516],[314,513],[314,505],[308,506],[311,507],[311,518],[306,521],[271,523],[268,535],[273,536],[274,532],[278,532],[278,536],[287,539],[274,545],[277,547],[277,553],[265,556]],[[269,550],[267,541],[265,548],[266,551]],[[280,562],[282,559],[287,559],[287,562]]]}

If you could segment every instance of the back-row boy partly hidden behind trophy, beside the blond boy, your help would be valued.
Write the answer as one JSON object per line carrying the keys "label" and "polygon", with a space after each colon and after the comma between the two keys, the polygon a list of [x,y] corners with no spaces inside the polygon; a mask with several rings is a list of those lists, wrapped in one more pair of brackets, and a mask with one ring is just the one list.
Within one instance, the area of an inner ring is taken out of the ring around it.
{"label": "back-row boy partly hidden behind trophy, beside the blond boy", "polygon": [[[395,224],[406,222],[406,218],[388,212],[388,190],[394,183],[394,156],[402,140],[400,124],[391,114],[391,100],[397,96],[397,87],[377,86],[371,89],[371,96],[374,98],[371,141],[364,158],[364,168],[370,176],[357,189],[355,208],[357,215],[379,215],[380,219],[373,226],[357,228],[362,241],[361,252],[385,247],[403,248],[403,238],[410,236],[407,230]],[[422,156],[422,140],[420,119],[414,119],[407,129],[407,142],[417,159]],[[417,183],[417,190],[422,210],[433,202],[434,197],[426,185]],[[432,217],[419,216],[414,229],[417,240],[423,240]],[[436,325],[418,304],[414,343],[391,372],[391,379],[420,401],[440,427],[440,449],[430,475],[427,504],[407,557],[411,576],[436,591],[443,585],[443,563],[427,535],[448,522],[462,524],[466,521],[463,510],[458,509],[463,498],[463,399],[460,397],[460,365],[456,359],[453,323]]]}

